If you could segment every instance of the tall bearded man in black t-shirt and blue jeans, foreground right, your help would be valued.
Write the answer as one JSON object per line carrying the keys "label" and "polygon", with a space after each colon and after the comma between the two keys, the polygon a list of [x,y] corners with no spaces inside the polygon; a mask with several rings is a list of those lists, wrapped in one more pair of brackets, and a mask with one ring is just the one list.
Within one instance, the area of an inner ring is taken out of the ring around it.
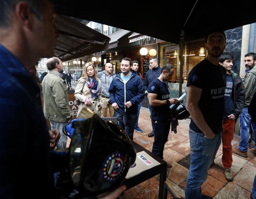
{"label": "tall bearded man in black t-shirt and blue jeans, foreground right", "polygon": [[219,60],[226,47],[225,34],[211,32],[206,36],[205,47],[208,55],[191,70],[187,83],[187,109],[192,117],[187,199],[202,197],[201,185],[207,179],[208,169],[221,143],[226,71]]}

